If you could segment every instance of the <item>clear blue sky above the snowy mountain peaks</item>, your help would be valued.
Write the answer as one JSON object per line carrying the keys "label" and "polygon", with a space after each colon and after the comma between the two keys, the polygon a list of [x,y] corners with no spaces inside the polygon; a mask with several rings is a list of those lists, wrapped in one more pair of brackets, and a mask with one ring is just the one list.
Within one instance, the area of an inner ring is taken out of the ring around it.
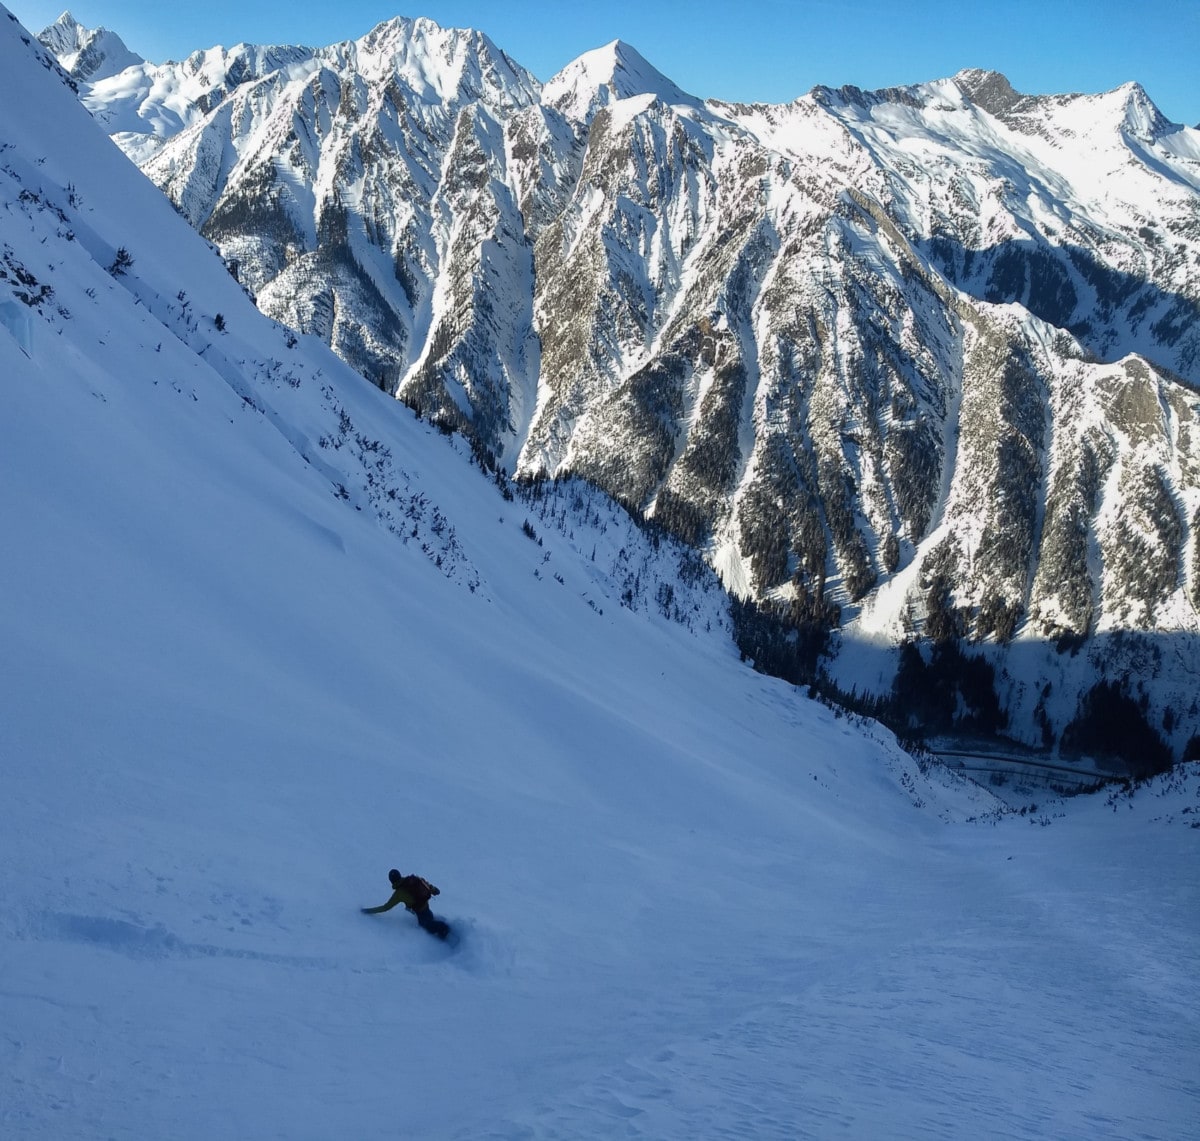
{"label": "clear blue sky above the snowy mountain peaks", "polygon": [[[8,6],[38,31],[64,0]],[[332,43],[391,16],[428,16],[481,29],[540,79],[620,38],[706,97],[786,102],[818,83],[880,88],[989,67],[1030,94],[1135,79],[1169,119],[1200,124],[1200,0],[80,0],[71,11],[151,60],[242,40]]]}

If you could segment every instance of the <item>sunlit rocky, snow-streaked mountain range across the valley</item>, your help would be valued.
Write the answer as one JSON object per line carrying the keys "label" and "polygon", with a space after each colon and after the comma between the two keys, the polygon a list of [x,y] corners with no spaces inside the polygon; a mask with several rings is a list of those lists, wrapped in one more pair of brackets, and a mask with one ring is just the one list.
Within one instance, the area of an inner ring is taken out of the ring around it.
{"label": "sunlit rocky, snow-streaked mountain range across the valley", "polygon": [[1135,84],[740,106],[396,19],[82,94],[264,312],[744,596],[892,647],[1196,635],[1200,133]]}

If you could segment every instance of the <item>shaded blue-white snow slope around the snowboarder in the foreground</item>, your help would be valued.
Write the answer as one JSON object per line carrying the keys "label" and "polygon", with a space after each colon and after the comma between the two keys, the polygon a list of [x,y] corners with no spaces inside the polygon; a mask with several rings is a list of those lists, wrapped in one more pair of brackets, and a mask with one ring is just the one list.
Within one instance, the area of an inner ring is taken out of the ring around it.
{"label": "shaded blue-white snow slope around the snowboarder in the foreground", "polygon": [[0,106],[0,1133],[1192,1129],[1194,765],[923,773],[259,314],[4,10]]}

